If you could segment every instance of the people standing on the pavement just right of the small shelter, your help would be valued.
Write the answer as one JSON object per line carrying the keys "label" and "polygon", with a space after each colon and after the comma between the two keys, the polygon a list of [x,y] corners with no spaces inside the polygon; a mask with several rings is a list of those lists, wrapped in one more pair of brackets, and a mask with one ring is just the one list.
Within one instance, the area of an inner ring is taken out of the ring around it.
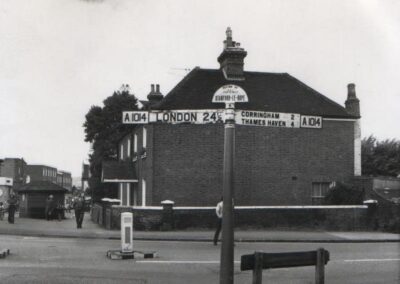
{"label": "people standing on the pavement just right of the small shelter", "polygon": [[[81,194],[77,197],[74,197],[72,204],[70,205],[74,209],[75,219],[76,219],[76,227],[78,229],[82,228],[83,216],[85,214],[85,195]],[[57,203],[54,200],[53,195],[49,195],[46,199],[45,205],[45,217],[46,220],[52,220],[57,216],[58,220],[61,221],[64,217],[65,210],[70,210],[71,207],[65,208],[63,202],[59,200]]]}

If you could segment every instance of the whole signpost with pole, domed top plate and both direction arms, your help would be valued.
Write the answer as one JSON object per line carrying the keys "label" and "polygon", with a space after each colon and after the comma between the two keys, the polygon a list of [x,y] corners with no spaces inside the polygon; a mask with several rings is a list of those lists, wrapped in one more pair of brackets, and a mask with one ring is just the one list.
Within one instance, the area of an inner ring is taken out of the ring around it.
{"label": "whole signpost with pole, domed top plate and both direction arms", "polygon": [[222,214],[220,284],[232,284],[234,263],[233,169],[235,154],[235,124],[283,128],[322,128],[322,117],[304,116],[296,113],[235,110],[235,103],[248,102],[248,96],[241,87],[233,84],[224,85],[219,88],[214,93],[212,102],[225,103],[225,109],[124,111],[122,114],[122,122],[124,124],[225,123],[223,168],[224,203]]}

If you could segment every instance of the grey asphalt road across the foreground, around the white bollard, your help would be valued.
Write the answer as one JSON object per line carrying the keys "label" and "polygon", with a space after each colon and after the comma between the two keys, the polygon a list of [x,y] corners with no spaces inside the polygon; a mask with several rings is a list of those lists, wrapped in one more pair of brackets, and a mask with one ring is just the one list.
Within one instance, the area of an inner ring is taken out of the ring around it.
{"label": "grey asphalt road across the foreground, around the white bollard", "polygon": [[[118,240],[0,236],[0,283],[218,283],[220,246],[205,242],[136,241],[154,259],[110,260]],[[240,255],[255,250],[285,252],[324,247],[331,260],[326,283],[400,283],[399,243],[237,243],[235,283],[251,283]],[[314,283],[314,267],[265,270],[265,283]]]}

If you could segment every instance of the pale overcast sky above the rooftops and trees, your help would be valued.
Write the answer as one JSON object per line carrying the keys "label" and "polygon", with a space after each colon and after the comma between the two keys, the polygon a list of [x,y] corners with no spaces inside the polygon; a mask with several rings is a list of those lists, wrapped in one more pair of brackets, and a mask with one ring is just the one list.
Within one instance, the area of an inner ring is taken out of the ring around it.
{"label": "pale overcast sky above the rooftops and trees", "polygon": [[80,176],[89,108],[122,84],[146,99],[218,69],[228,26],[246,71],[287,72],[343,106],[355,83],[362,137],[400,139],[399,1],[1,0],[0,158]]}

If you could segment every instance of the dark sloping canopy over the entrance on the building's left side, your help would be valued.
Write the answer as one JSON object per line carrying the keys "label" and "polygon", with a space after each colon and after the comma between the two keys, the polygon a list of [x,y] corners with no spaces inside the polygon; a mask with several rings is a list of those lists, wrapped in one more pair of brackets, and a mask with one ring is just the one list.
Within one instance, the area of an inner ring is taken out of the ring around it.
{"label": "dark sloping canopy over the entrance on the building's left side", "polygon": [[137,182],[133,162],[106,161],[102,164],[102,182]]}

